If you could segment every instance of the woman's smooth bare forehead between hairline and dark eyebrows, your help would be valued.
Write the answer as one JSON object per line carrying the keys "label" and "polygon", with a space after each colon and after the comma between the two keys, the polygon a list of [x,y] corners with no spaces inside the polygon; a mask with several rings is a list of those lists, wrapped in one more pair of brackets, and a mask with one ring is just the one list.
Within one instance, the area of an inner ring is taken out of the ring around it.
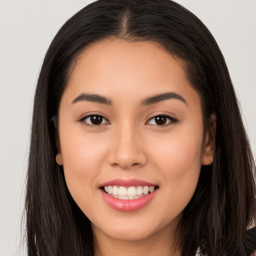
{"label": "woman's smooth bare forehead between hairline and dark eyebrows", "polygon": [[104,39],[78,56],[64,94],[68,93],[70,102],[84,92],[103,94],[113,101],[124,95],[135,102],[171,91],[182,93],[188,103],[189,98],[199,102],[183,67],[179,58],[157,43]]}

